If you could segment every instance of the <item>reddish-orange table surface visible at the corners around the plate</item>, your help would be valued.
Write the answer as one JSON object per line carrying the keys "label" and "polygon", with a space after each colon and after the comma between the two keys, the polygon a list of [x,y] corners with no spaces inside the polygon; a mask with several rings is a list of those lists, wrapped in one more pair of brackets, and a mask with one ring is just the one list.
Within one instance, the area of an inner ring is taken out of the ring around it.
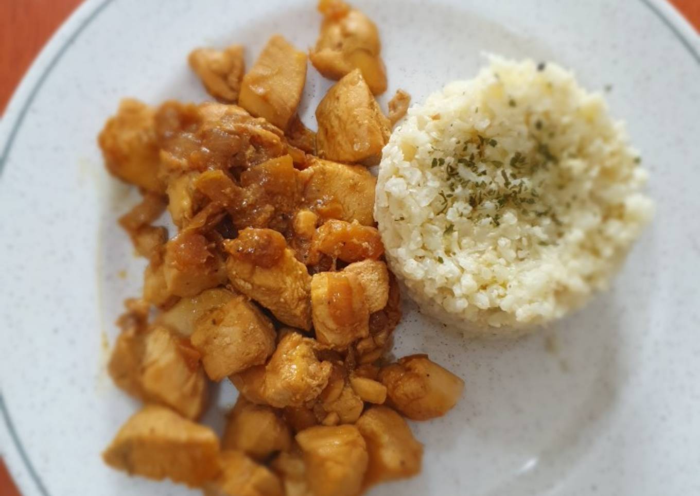
{"label": "reddish-orange table surface visible at the corners around the plate", "polygon": [[[82,0],[0,0],[0,115],[44,43]],[[700,31],[700,0],[670,0]],[[20,496],[0,459],[0,496]]]}

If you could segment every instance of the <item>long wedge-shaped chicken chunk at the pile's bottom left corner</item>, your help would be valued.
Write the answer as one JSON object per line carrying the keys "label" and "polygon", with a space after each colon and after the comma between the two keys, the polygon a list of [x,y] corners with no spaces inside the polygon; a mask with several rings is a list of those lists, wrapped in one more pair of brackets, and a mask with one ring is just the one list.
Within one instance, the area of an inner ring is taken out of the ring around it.
{"label": "long wedge-shaped chicken chunk at the pile's bottom left corner", "polygon": [[146,405],[121,427],[102,453],[107,465],[129,474],[198,487],[219,473],[214,431],[165,406]]}

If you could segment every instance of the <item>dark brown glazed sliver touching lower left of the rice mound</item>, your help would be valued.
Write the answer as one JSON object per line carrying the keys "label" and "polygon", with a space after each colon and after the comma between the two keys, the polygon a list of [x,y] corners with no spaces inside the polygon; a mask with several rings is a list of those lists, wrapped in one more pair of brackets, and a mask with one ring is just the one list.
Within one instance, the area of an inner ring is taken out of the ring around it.
{"label": "dark brown glazed sliver touching lower left of the rice mound", "polygon": [[391,334],[401,320],[401,294],[398,281],[389,273],[389,294],[386,306],[370,315],[370,336],[355,345],[358,362],[371,364],[391,346]]}

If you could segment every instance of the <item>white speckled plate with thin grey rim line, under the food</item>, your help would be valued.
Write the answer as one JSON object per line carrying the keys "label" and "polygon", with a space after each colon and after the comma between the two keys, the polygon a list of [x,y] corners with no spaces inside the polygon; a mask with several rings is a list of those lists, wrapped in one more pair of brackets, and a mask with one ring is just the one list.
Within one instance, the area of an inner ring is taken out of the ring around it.
{"label": "white speckled plate with thin grey rim line, under the food", "polygon": [[[134,194],[106,175],[95,136],[120,97],[204,99],[185,62],[197,45],[245,43],[251,61],[276,31],[314,42],[314,1],[241,3],[87,1],[8,108],[0,448],[26,496],[188,493],[99,458],[136,406],[106,376],[103,341],[143,262],[114,222]],[[473,76],[481,52],[554,60],[586,87],[611,85],[658,207],[614,288],[542,334],[463,341],[405,304],[395,353],[427,351],[466,390],[447,417],[413,424],[421,475],[372,494],[700,494],[699,38],[651,0],[356,3],[381,29],[390,92],[421,100]],[[329,83],[309,75],[312,123]],[[218,409],[232,399],[225,385]]]}

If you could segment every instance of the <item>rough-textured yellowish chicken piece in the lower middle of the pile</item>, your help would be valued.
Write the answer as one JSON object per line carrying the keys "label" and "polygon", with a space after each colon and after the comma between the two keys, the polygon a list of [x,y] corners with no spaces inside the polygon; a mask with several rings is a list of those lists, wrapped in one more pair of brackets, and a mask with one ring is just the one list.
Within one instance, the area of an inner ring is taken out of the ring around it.
{"label": "rough-textured yellowish chicken piece in the lower middle of the pile", "polygon": [[302,406],[328,384],[330,362],[316,357],[318,343],[297,332],[287,334],[265,367],[265,399],[276,408]]}

